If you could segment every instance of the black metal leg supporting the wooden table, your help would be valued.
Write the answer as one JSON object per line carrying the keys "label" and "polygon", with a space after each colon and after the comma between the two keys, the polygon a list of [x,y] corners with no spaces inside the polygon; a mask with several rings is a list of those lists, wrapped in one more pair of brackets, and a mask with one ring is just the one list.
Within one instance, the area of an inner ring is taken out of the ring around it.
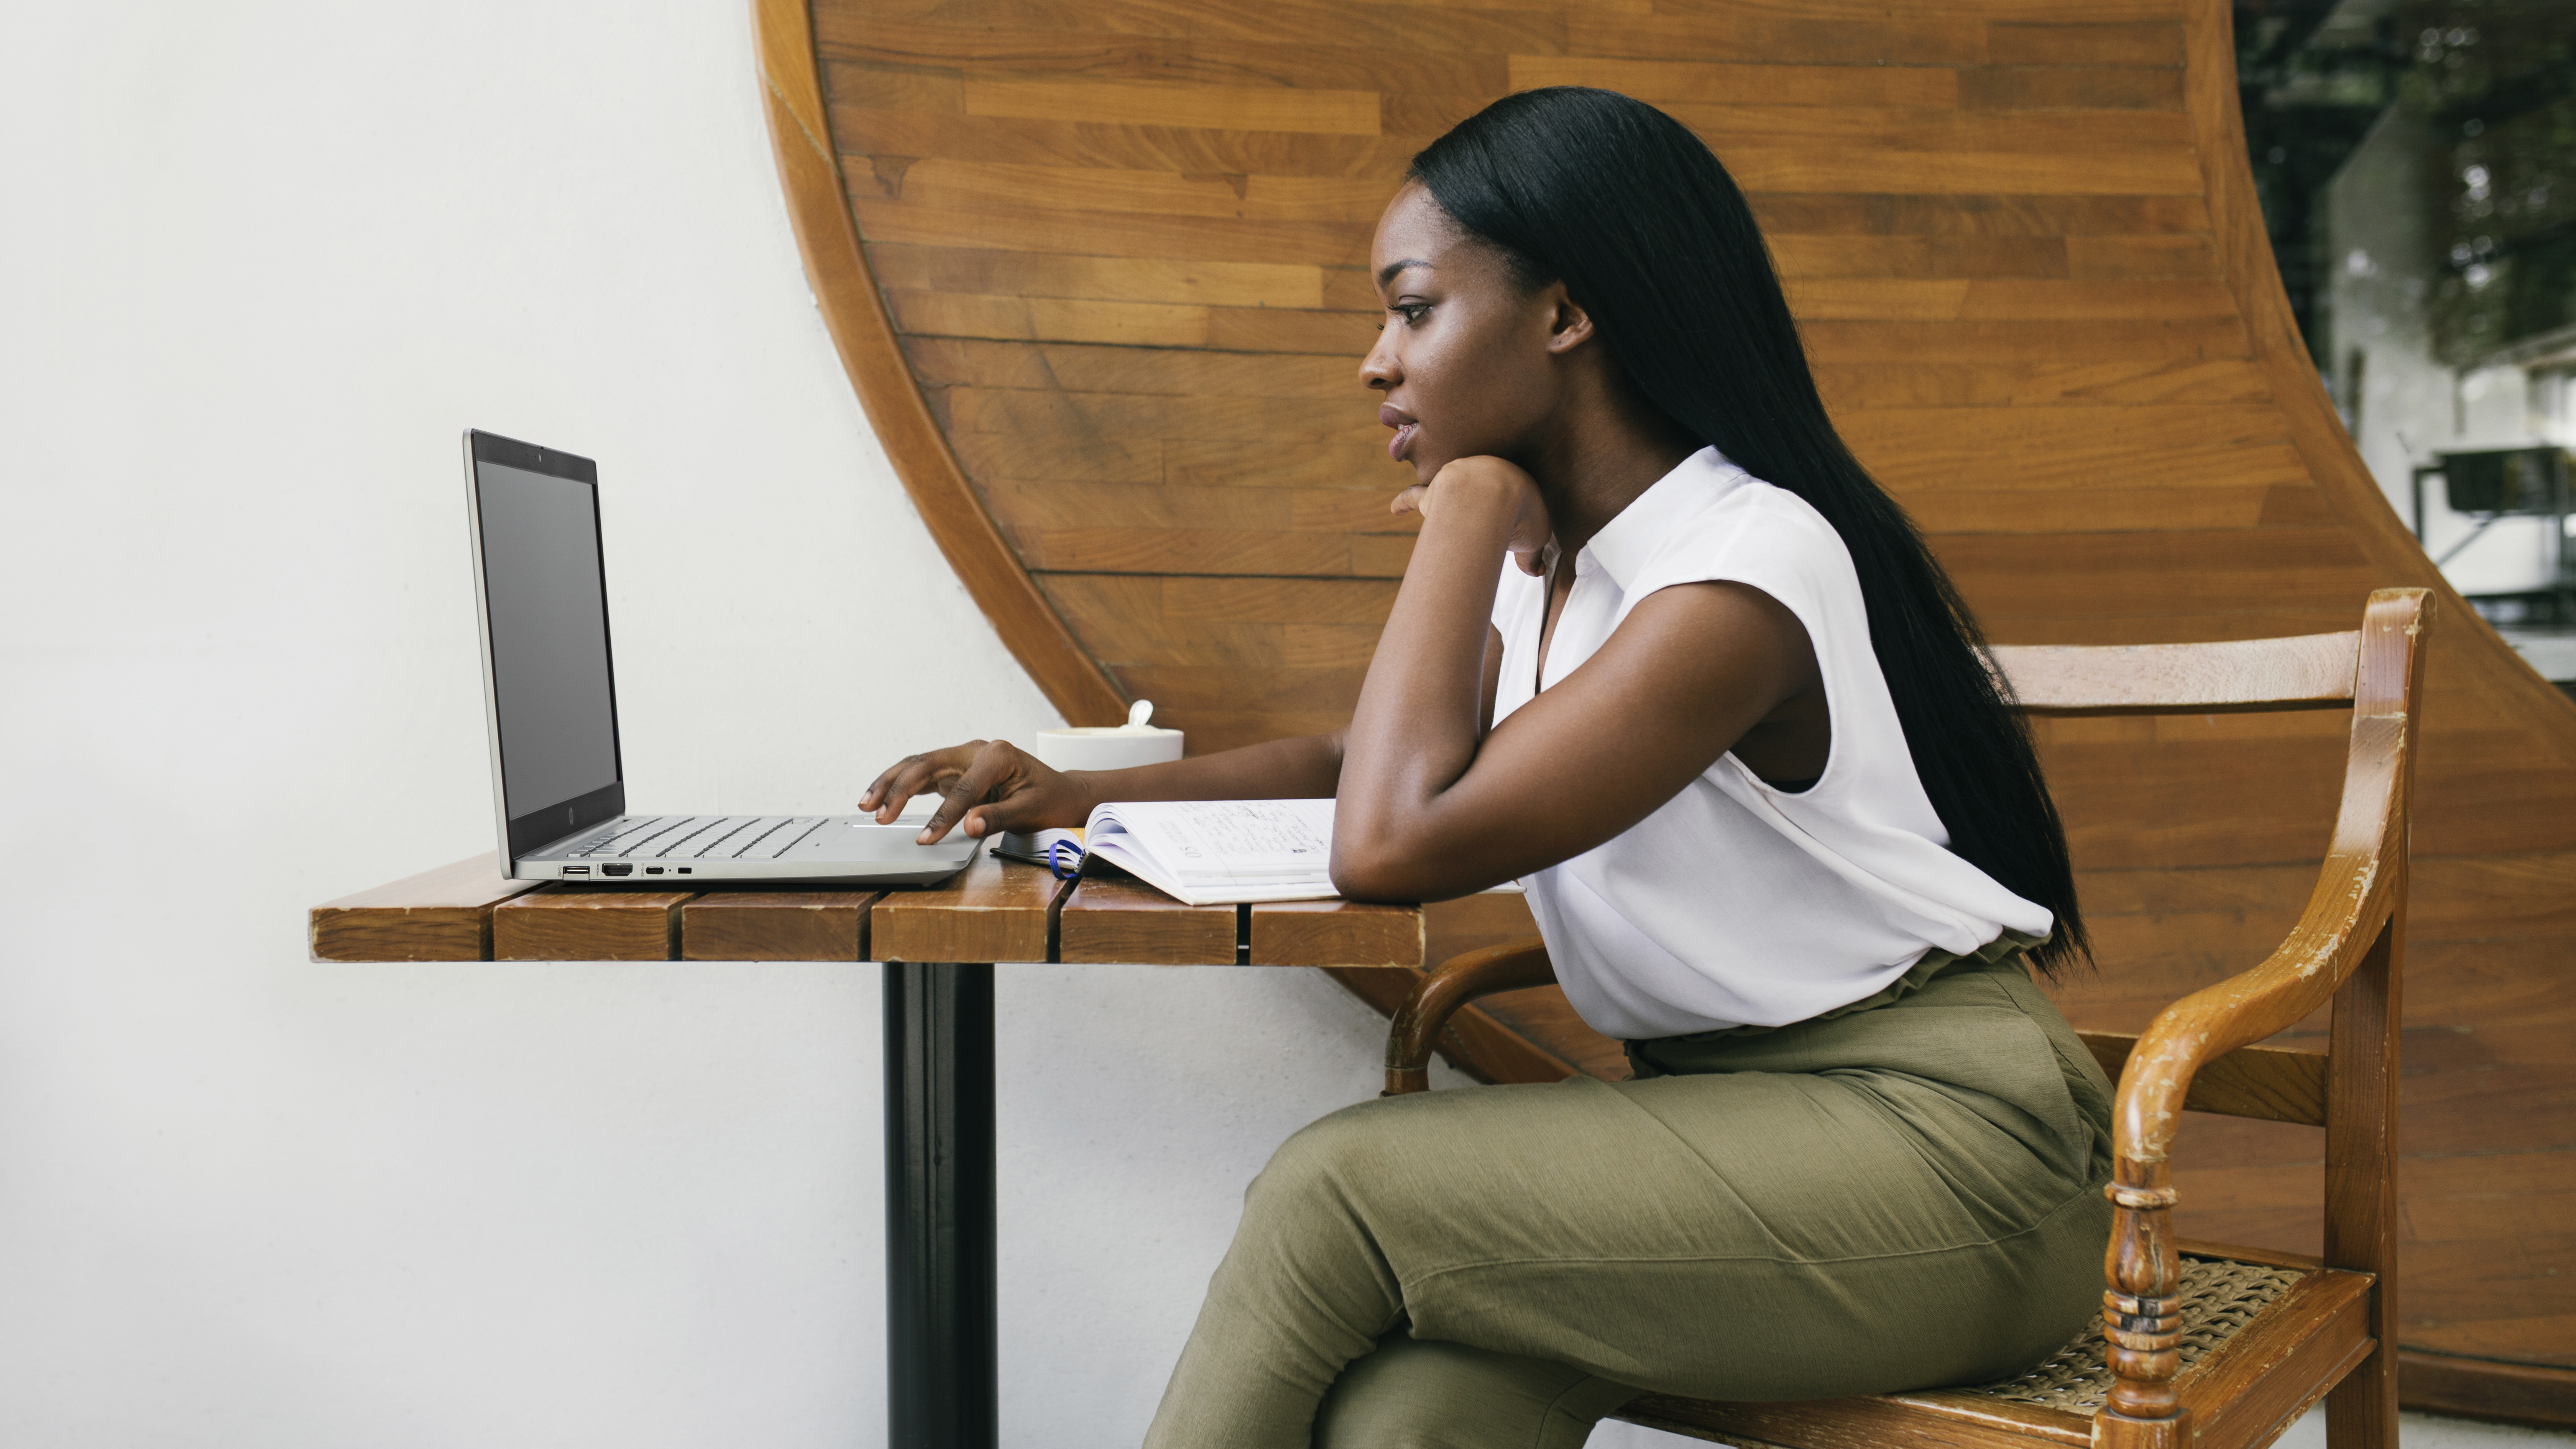
{"label": "black metal leg supporting the wooden table", "polygon": [[886,1444],[997,1449],[992,964],[886,962]]}

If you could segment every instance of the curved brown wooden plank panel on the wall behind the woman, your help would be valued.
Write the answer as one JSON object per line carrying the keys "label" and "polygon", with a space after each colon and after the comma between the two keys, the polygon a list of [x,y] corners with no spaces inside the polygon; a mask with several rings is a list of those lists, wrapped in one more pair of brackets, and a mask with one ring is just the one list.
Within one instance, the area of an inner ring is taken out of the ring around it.
{"label": "curved brown wooden plank panel on the wall behind the woman", "polygon": [[[2336,632],[2370,588],[2442,588],[2290,322],[2223,0],[757,8],[842,356],[1069,717],[1151,696],[1198,750],[1347,717],[1409,549],[1355,382],[1370,222],[1414,150],[1553,83],[1654,101],[1728,162],[1844,433],[1996,639]],[[2406,1346],[2450,1374],[2424,1385],[2514,1359],[2576,1413],[2576,706],[2450,590],[2439,616]],[[2342,732],[2040,724],[2105,962],[2061,993],[2079,1024],[2136,1029],[2287,931]],[[1461,902],[1450,944],[1515,910]],[[1492,1008],[1530,1060],[1615,1070],[1558,995]],[[2316,1238],[2313,1132],[2184,1147],[2190,1230]]]}

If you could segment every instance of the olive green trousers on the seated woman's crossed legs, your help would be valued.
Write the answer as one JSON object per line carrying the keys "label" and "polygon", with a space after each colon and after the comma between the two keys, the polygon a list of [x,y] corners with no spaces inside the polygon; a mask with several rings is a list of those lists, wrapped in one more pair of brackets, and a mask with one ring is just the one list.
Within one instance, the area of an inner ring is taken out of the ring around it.
{"label": "olive green trousers on the seated woman's crossed legs", "polygon": [[2097,1310],[2110,1083],[2017,941],[1636,1078],[1365,1101],[1244,1196],[1149,1449],[1558,1449],[1996,1379]]}

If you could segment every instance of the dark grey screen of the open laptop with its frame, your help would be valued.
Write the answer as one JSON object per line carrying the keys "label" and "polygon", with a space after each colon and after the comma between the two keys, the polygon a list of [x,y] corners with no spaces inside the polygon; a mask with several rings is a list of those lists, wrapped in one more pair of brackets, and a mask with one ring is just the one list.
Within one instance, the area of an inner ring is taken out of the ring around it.
{"label": "dark grey screen of the open laptop with its frame", "polygon": [[518,856],[626,807],[598,469],[477,433],[474,516],[502,815]]}

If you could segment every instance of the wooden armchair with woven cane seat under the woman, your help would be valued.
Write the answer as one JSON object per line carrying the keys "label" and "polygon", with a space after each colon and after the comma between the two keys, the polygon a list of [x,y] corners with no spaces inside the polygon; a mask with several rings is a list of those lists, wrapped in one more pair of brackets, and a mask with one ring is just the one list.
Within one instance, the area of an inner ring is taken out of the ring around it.
{"label": "wooden armchair with woven cane seat under the woman", "polygon": [[[2334,1449],[2393,1449],[2398,957],[2406,807],[2424,678],[2421,588],[2370,596],[2354,634],[2228,645],[1996,647],[2030,714],[2352,706],[2344,799],[2306,915],[2259,967],[2164,1008],[2138,1036],[2084,1034],[2120,1083],[2102,1325],[1996,1385],[1814,1403],[1643,1395],[1618,1418],[1785,1449],[2259,1449],[2318,1397]],[[1535,938],[1422,977],[1386,1039],[1386,1091],[1430,1085],[1458,1006],[1556,980]],[[2329,1052],[2257,1047],[2334,1003]],[[2326,1253],[2174,1238],[2184,1111],[2326,1129]]]}

